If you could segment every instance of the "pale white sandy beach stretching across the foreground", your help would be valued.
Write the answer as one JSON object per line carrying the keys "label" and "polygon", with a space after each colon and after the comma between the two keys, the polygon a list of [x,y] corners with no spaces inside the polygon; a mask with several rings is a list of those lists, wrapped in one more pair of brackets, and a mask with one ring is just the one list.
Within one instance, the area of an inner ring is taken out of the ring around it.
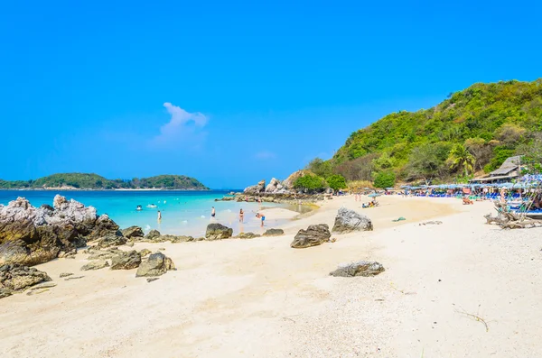
{"label": "pale white sandy beach stretching across the foreground", "polygon": [[[369,209],[353,197],[326,201],[279,237],[136,243],[164,248],[177,267],[151,283],[135,270],[79,271],[83,254],[39,265],[58,286],[0,300],[0,356],[542,356],[542,229],[483,225],[490,202],[379,201]],[[375,230],[290,248],[300,228],[332,227],[341,206],[368,215]],[[294,216],[265,211],[270,219]],[[406,221],[391,221],[399,216]],[[418,225],[428,219],[443,225]],[[358,260],[386,271],[328,275]],[[61,272],[84,278],[66,281]]]}

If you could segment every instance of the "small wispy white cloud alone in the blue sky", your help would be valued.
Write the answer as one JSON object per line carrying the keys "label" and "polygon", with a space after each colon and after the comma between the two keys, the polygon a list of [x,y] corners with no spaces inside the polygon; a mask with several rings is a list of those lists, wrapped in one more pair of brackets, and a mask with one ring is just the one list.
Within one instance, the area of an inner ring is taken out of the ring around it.
{"label": "small wispy white cloud alone in the blue sky", "polygon": [[190,113],[169,102],[164,103],[164,107],[172,117],[167,124],[160,127],[160,134],[154,137],[154,143],[164,144],[188,139],[209,121],[209,118],[200,112]]}

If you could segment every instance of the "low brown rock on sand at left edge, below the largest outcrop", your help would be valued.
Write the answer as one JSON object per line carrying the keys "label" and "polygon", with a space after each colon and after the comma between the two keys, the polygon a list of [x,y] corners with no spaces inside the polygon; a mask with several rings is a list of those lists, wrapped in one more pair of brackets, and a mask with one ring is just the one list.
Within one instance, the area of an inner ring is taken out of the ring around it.
{"label": "low brown rock on sand at left edge, below the largest outcrop", "polygon": [[0,266],[0,298],[27,289],[43,281],[50,281],[47,273],[17,263]]}

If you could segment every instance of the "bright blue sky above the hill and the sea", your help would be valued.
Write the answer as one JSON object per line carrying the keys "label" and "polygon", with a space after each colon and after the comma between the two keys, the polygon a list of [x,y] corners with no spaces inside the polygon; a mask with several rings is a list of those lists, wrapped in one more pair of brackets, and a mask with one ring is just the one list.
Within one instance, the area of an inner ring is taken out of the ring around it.
{"label": "bright blue sky above the hill and the sea", "polygon": [[542,77],[535,1],[77,3],[0,5],[2,179],[243,188],[390,112]]}

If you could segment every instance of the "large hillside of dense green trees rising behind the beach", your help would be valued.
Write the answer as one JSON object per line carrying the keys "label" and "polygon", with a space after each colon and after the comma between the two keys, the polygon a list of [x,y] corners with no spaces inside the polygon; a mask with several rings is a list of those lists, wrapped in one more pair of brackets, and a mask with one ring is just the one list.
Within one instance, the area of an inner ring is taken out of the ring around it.
{"label": "large hillside of dense green trees rising behind the beach", "polygon": [[397,179],[429,182],[470,178],[519,154],[528,154],[534,169],[540,133],[542,78],[477,83],[435,107],[386,115],[351,133],[331,160],[315,159],[307,169],[324,178],[374,180],[392,171]]}

